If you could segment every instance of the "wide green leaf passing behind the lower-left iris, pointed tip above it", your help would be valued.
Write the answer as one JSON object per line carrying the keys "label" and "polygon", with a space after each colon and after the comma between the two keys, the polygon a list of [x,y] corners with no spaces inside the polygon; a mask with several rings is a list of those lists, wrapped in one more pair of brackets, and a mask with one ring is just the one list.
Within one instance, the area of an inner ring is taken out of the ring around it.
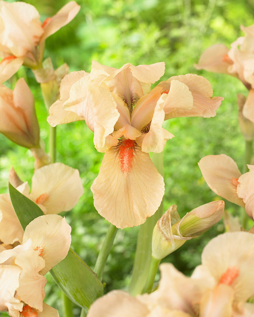
{"label": "wide green leaf passing behind the lower-left iris, pointed tip above it", "polygon": [[[9,183],[10,199],[23,229],[43,212],[37,204],[21,194]],[[86,311],[103,295],[104,287],[91,268],[72,249],[63,261],[50,270],[63,292]]]}

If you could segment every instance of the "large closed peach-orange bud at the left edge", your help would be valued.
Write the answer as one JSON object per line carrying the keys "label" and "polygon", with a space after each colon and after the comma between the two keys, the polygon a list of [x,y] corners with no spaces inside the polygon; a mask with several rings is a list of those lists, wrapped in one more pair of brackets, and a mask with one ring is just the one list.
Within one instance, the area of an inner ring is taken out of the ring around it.
{"label": "large closed peach-orange bud at the left edge", "polygon": [[39,125],[33,95],[23,78],[14,90],[0,85],[0,133],[28,148],[39,147]]}

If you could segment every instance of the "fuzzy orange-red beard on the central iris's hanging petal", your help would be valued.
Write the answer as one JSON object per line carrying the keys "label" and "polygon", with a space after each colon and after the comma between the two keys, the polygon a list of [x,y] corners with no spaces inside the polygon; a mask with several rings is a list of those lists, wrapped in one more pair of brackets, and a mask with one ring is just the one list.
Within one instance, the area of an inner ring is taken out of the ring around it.
{"label": "fuzzy orange-red beard on the central iris's hanging petal", "polygon": [[126,139],[119,145],[120,170],[122,173],[129,173],[132,168],[134,140]]}

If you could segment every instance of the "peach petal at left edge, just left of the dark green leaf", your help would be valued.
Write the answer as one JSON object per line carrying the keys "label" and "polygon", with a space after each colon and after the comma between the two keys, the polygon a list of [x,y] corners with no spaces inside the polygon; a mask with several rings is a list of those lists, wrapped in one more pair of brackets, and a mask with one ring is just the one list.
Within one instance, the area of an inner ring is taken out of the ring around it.
{"label": "peach petal at left edge, just left of the dark green leaf", "polygon": [[5,244],[22,242],[24,230],[12,207],[9,194],[0,195],[0,240]]}

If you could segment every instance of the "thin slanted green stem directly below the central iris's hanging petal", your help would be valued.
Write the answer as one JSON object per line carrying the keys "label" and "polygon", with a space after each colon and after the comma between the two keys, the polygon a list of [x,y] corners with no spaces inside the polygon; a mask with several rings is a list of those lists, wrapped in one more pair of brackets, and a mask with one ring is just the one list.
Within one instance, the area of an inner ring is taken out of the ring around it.
{"label": "thin slanted green stem directly below the central iris's hanging petal", "polygon": [[110,250],[115,240],[118,228],[110,223],[109,230],[105,236],[99,255],[97,257],[94,272],[97,274],[98,279],[102,279],[105,264],[107,262]]}

